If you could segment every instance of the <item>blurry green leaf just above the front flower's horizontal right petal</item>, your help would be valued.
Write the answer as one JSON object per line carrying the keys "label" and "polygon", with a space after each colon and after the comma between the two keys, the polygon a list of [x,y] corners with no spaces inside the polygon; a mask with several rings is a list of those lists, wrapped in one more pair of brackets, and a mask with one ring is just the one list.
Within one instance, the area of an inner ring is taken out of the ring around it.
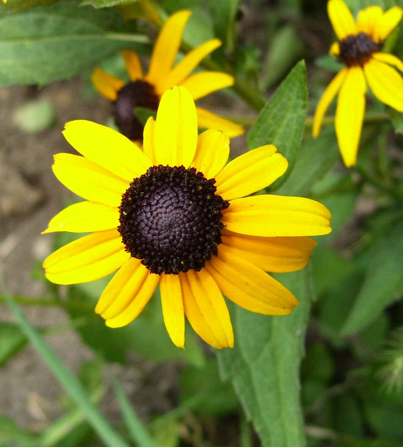
{"label": "blurry green leaf just above the front flower's horizontal right petal", "polygon": [[[309,195],[313,185],[340,158],[333,128],[322,130],[318,138],[306,139],[287,180],[276,190],[281,195]],[[288,168],[290,170],[290,168]]]}

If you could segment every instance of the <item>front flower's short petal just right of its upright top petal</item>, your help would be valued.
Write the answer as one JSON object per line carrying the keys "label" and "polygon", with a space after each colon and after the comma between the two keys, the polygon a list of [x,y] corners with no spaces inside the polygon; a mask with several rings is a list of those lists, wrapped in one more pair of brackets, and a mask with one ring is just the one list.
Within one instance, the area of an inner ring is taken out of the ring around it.
{"label": "front flower's short petal just right of its upright top petal", "polygon": [[191,166],[203,172],[207,179],[212,179],[223,169],[229,155],[228,136],[221,130],[209,129],[198,136],[196,155]]}

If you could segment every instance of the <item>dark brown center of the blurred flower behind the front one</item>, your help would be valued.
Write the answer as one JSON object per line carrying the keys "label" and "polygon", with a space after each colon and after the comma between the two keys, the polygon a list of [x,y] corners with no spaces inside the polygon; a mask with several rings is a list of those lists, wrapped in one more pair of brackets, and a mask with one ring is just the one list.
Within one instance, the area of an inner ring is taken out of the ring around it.
{"label": "dark brown center of the blurred flower behind the front one", "polygon": [[157,110],[159,102],[154,86],[148,82],[137,80],[126,84],[113,102],[115,123],[120,132],[132,141],[143,141],[144,127],[135,115],[135,108]]}

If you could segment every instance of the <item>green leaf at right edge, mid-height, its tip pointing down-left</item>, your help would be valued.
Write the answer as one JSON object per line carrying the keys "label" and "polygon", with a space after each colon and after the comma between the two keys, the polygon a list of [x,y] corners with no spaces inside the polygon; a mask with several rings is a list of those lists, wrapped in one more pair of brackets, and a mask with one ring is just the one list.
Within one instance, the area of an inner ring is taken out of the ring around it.
{"label": "green leaf at right edge, mid-height, its tip pointing down-left", "polygon": [[385,234],[371,251],[372,262],[342,335],[359,332],[403,293],[403,224]]}

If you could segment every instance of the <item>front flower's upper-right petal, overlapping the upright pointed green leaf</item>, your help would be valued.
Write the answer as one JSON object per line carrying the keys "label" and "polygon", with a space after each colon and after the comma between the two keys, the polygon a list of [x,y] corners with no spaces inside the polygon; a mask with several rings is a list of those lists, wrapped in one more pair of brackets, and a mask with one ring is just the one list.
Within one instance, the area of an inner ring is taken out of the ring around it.
{"label": "front flower's upper-right petal, overlapping the upright pointed green leaf", "polygon": [[231,200],[252,194],[271,185],[288,167],[273,144],[258,147],[226,165],[216,175],[217,194]]}

